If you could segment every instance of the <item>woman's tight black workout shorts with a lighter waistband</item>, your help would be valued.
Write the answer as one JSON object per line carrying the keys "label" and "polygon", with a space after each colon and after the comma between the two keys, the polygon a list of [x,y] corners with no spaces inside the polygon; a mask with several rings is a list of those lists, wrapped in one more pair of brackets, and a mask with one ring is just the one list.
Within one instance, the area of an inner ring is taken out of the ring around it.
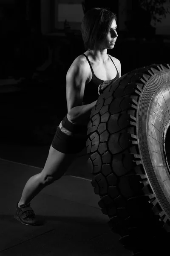
{"label": "woman's tight black workout shorts with a lighter waistband", "polygon": [[79,153],[85,147],[87,139],[87,125],[74,125],[65,116],[57,127],[51,145],[65,154]]}

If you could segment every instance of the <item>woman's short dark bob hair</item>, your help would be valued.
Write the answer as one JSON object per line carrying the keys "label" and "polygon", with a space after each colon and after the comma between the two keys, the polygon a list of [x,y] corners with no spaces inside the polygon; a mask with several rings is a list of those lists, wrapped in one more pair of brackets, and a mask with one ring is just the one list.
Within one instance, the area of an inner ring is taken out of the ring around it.
{"label": "woman's short dark bob hair", "polygon": [[106,38],[114,19],[117,20],[116,14],[108,8],[95,7],[85,13],[81,32],[86,50],[96,49],[97,42],[102,42]]}

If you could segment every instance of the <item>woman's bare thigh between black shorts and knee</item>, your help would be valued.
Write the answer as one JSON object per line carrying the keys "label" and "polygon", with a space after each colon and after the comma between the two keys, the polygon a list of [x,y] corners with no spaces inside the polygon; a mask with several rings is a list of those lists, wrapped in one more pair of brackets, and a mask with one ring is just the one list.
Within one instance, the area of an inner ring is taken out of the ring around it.
{"label": "woman's bare thigh between black shorts and knee", "polygon": [[42,175],[52,176],[54,178],[61,177],[71,165],[71,163],[75,160],[77,154],[65,154],[59,152],[52,146],[50,147],[49,154],[42,170]]}

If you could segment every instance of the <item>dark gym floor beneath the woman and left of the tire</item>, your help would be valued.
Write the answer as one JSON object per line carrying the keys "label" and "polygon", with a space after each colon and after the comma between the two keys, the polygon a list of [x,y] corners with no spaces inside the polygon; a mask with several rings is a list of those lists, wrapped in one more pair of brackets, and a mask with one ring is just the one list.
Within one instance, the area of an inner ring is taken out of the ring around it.
{"label": "dark gym floor beneath the woman and left of the tire", "polygon": [[85,150],[66,175],[33,199],[40,226],[28,227],[14,218],[23,187],[41,171],[48,149],[0,145],[0,256],[129,256],[98,206]]}

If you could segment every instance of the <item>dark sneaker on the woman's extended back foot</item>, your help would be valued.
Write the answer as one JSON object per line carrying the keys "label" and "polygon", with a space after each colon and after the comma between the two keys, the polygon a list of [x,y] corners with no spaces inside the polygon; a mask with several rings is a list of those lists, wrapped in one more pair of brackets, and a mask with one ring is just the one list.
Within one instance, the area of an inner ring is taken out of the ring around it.
{"label": "dark sneaker on the woman's extended back foot", "polygon": [[35,219],[35,213],[33,209],[30,207],[30,204],[22,204],[20,207],[18,207],[17,203],[14,218],[16,218],[22,224],[28,226],[34,226],[37,224],[37,221]]}

